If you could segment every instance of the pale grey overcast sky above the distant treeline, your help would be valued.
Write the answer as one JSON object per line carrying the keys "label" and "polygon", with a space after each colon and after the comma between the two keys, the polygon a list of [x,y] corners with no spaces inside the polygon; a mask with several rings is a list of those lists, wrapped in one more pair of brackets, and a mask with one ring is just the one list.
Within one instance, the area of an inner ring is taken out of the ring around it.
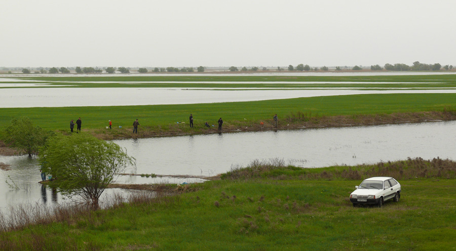
{"label": "pale grey overcast sky above the distant treeline", "polygon": [[456,65],[456,1],[0,3],[0,66]]}

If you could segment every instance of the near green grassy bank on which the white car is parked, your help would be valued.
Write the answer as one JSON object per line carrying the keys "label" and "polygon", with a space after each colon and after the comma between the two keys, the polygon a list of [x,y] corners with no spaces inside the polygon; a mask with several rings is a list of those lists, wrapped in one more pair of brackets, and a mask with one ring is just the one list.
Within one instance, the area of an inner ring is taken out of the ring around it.
{"label": "near green grassy bank on which the white car is parked", "polygon": [[[454,165],[438,160],[407,163],[411,170],[421,164],[437,169]],[[395,169],[402,165],[397,166]],[[331,169],[369,170],[376,169],[376,165]],[[348,196],[361,180],[317,176],[303,179],[298,169],[286,166],[258,172],[271,171],[280,175],[225,177],[192,185],[195,192],[121,204],[60,223],[4,232],[0,234],[0,249],[454,249],[453,178],[399,180],[399,202],[388,202],[382,208],[354,208]],[[312,172],[323,174],[328,170]]]}

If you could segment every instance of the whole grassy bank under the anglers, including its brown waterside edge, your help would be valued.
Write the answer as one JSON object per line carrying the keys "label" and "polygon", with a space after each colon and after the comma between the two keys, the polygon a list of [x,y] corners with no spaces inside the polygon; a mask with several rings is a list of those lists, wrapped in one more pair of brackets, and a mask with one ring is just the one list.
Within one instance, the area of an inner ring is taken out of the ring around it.
{"label": "whole grassy bank under the anglers, including its brown waterside edge", "polygon": [[[0,108],[0,128],[6,128],[13,117],[27,116],[46,130],[69,132],[69,121],[81,117],[84,131],[113,139],[132,137],[135,118],[140,122],[135,137],[212,133],[217,131],[219,117],[225,131],[267,130],[273,128],[275,113],[282,129],[452,120],[455,98],[456,94],[370,94],[186,105]],[[187,121],[190,113],[193,129]],[[112,130],[105,129],[108,120]],[[205,121],[215,127],[204,127]]]}

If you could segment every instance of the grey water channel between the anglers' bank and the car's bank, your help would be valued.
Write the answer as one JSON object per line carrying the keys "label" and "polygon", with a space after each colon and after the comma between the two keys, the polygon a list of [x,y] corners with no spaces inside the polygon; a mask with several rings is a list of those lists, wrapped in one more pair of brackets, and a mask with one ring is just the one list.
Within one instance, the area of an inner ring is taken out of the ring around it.
{"label": "grey water channel between the anglers' bank and the car's bank", "polygon": [[[126,173],[213,176],[251,161],[283,159],[303,168],[336,164],[356,165],[407,157],[456,159],[456,121],[379,125],[336,129],[277,132],[222,133],[149,139],[115,140],[137,160]],[[61,195],[42,187],[36,159],[0,156],[10,171],[0,170],[0,211],[8,205],[62,201]],[[10,185],[8,185],[6,183]],[[122,176],[121,184],[191,183],[198,178]],[[106,191],[107,194],[113,190]],[[125,190],[118,190],[123,191]]]}

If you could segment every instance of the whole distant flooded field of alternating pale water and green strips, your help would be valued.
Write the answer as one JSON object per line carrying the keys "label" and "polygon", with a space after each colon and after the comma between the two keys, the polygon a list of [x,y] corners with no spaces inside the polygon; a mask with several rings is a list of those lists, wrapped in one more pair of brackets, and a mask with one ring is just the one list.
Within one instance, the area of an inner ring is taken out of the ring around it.
{"label": "whole distant flooded field of alternating pale water and green strips", "polygon": [[456,93],[456,78],[449,74],[456,76],[451,72],[0,75],[0,108],[168,105],[356,94]]}

